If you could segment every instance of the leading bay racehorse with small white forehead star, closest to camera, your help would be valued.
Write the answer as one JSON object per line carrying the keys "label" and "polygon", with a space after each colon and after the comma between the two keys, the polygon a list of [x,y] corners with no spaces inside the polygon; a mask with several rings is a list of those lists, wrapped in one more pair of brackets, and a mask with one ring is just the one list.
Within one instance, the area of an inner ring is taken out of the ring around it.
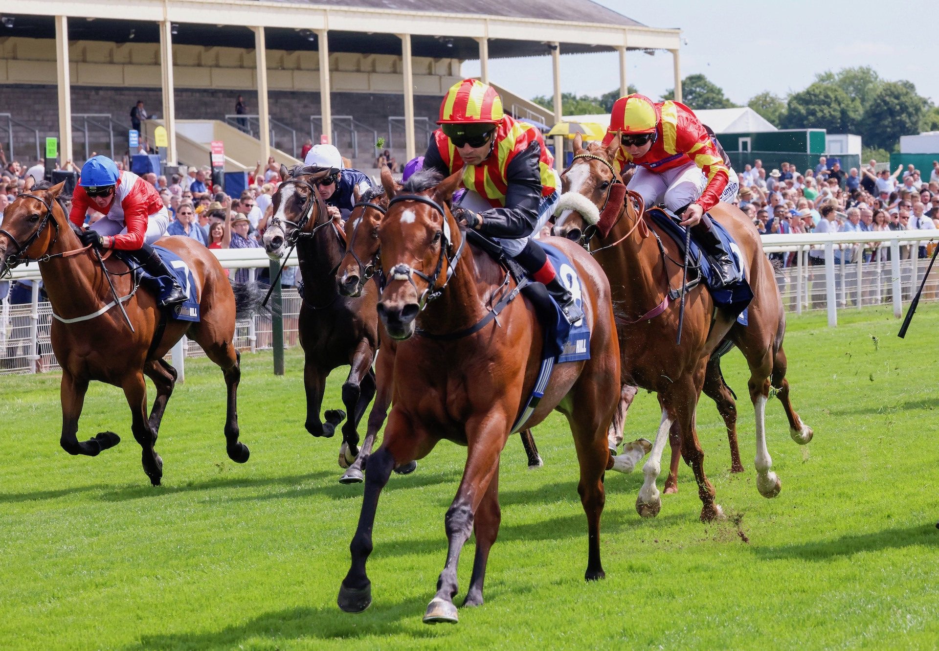
{"label": "leading bay racehorse with small white forehead star, closest to camera", "polygon": [[[378,495],[393,467],[427,455],[440,439],[468,446],[463,479],[447,510],[449,543],[437,596],[424,622],[456,622],[456,567],[460,550],[476,535],[469,592],[464,605],[483,603],[489,550],[500,524],[499,459],[509,435],[522,426],[528,396],[541,366],[542,325],[527,299],[511,296],[511,274],[490,256],[467,245],[447,206],[462,171],[440,182],[425,171],[408,179],[381,221],[380,267],[386,285],[378,314],[398,340],[393,367],[393,408],[385,436],[368,460],[362,512],[351,566],[339,591],[346,612],[372,601],[365,563],[372,551]],[[591,329],[590,360],[558,364],[526,425],[558,409],[574,434],[580,464],[578,491],[587,514],[587,580],[604,576],[600,562],[600,515],[605,502],[607,427],[619,399],[619,349],[614,336],[606,276],[573,242],[552,239],[577,267]],[[498,319],[491,306],[500,306]]]}

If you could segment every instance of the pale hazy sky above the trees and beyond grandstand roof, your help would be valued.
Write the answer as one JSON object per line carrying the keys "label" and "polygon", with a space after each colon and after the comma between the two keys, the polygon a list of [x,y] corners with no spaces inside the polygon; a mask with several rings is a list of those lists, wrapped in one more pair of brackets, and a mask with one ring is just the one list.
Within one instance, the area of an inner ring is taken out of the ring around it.
{"label": "pale hazy sky above the trees and beyond grandstand roof", "polygon": [[[939,24],[936,0],[912,5],[888,0],[594,2],[639,23],[680,28],[687,41],[681,49],[682,77],[701,73],[737,104],[764,90],[785,97],[811,84],[819,72],[855,66],[870,66],[889,81],[907,79],[920,95],[939,103],[932,36]],[[659,98],[674,85],[669,52],[631,51],[626,64],[627,81],[640,93]],[[479,74],[479,61],[465,62],[463,71]],[[553,92],[549,56],[490,60],[489,77],[522,97]],[[562,54],[561,85],[564,92],[593,96],[617,88],[619,55]]]}

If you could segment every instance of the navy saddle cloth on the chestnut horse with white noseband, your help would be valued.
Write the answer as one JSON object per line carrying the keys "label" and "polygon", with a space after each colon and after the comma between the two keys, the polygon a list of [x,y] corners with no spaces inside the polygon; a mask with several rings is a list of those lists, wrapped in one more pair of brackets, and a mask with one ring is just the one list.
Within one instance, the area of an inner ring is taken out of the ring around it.
{"label": "navy saddle cloth on the chestnut horse with white noseband", "polygon": [[[669,237],[675,241],[680,251],[685,252],[685,227],[678,225],[678,217],[671,213],[670,210],[658,206],[646,209],[645,215],[652,220],[653,225],[665,231]],[[719,289],[713,288],[719,284],[719,282],[717,282],[718,278],[711,265],[711,261],[707,256],[703,255],[698,242],[695,241],[694,231],[691,232],[691,252],[688,266],[689,268],[692,265],[700,266],[701,282],[703,282],[708,288],[708,291],[711,292],[711,297],[714,299],[717,306],[731,312],[741,325],[746,326],[747,305],[753,299],[753,291],[750,289],[749,283],[747,283],[747,266],[744,263],[740,247],[737,245],[737,242],[733,240],[727,229],[720,225],[716,219],[712,219],[711,224],[715,226],[715,232],[723,243],[724,249],[731,254],[731,260],[733,260],[734,263],[735,282],[720,287]]]}

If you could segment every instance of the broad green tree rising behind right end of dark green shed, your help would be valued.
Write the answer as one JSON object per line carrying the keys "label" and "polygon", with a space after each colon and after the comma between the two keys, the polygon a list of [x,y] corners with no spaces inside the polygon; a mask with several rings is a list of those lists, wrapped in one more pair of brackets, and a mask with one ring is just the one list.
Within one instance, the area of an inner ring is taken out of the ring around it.
{"label": "broad green tree rising behind right end of dark green shed", "polygon": [[854,132],[861,104],[837,85],[815,82],[790,96],[780,119],[783,129],[825,129],[829,133]]}

